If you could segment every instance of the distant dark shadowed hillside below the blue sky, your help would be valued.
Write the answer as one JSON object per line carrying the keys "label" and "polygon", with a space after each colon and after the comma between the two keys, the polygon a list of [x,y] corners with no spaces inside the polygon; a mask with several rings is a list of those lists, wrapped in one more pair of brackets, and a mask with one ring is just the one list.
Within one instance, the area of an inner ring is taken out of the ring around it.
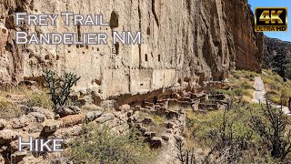
{"label": "distant dark shadowed hillside below the blue sky", "polygon": [[264,36],[264,43],[265,51],[263,57],[263,67],[271,67],[273,57],[276,56],[276,51],[279,49],[284,49],[286,51],[286,55],[291,57],[291,42],[286,42],[280,39]]}

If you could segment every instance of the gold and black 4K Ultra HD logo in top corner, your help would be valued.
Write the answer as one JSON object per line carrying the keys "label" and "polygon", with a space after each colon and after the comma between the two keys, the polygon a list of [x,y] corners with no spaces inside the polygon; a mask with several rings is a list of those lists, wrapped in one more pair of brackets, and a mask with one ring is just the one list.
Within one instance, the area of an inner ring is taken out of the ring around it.
{"label": "gold and black 4K Ultra HD logo in top corner", "polygon": [[287,31],[286,7],[256,7],[255,31]]}

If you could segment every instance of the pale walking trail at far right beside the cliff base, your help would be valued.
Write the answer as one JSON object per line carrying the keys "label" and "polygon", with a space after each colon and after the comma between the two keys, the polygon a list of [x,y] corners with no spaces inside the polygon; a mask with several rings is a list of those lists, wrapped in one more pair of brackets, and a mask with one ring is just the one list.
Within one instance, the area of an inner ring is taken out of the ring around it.
{"label": "pale walking trail at far right beside the cliff base", "polygon": [[[264,82],[261,77],[255,77],[255,92],[253,102],[255,103],[266,103],[266,90],[264,86]],[[276,108],[281,108],[280,105],[274,105]],[[282,106],[282,110],[286,115],[290,115],[289,109],[285,106]]]}

